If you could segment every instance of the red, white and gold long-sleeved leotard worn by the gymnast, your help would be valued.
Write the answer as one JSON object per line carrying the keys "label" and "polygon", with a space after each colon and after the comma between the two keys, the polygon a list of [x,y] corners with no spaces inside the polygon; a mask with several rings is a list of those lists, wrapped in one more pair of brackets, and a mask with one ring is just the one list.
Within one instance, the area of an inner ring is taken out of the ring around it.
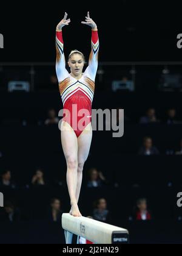
{"label": "red, white and gold long-sleeved leotard worn by the gymnast", "polygon": [[[63,109],[65,113],[67,113],[66,110],[69,110],[70,113],[69,115],[66,114],[62,120],[70,124],[75,131],[76,137],[79,137],[84,128],[91,122],[95,76],[98,68],[98,50],[98,32],[97,30],[92,30],[89,66],[87,66],[83,76],[77,80],[66,69],[62,31],[56,31],[56,74]],[[84,122],[83,126],[80,127],[78,123],[83,118],[83,113],[85,113]],[[76,120],[76,123],[74,120]]]}

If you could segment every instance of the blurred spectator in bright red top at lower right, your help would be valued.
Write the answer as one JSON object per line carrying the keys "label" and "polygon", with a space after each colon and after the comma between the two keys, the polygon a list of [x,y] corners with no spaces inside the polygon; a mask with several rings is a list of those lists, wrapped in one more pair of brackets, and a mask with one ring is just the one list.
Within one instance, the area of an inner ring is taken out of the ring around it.
{"label": "blurred spectator in bright red top at lower right", "polygon": [[140,198],[136,201],[136,206],[135,206],[135,212],[133,219],[137,221],[148,221],[152,219],[152,216],[147,210],[147,199],[146,198]]}

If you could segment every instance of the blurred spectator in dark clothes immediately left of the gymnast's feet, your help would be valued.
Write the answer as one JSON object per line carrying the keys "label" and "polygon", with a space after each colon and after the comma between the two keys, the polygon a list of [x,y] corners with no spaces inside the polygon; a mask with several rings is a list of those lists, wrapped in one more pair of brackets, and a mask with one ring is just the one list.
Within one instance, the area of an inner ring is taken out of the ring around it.
{"label": "blurred spectator in dark clothes immediately left of the gymnast's feet", "polygon": [[50,209],[47,213],[47,219],[51,222],[61,222],[61,201],[58,198],[53,198],[50,202]]}

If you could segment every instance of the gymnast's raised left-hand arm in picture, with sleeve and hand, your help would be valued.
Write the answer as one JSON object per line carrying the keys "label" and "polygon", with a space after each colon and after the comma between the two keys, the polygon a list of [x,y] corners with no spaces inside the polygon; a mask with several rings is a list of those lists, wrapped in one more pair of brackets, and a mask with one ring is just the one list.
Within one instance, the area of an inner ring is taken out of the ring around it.
{"label": "gymnast's raised left-hand arm in picture, with sleeve and hand", "polygon": [[58,77],[58,82],[66,79],[69,73],[66,69],[66,62],[64,57],[63,46],[64,42],[62,39],[62,27],[68,26],[70,19],[67,20],[67,13],[64,14],[64,18],[59,22],[56,27],[56,74]]}

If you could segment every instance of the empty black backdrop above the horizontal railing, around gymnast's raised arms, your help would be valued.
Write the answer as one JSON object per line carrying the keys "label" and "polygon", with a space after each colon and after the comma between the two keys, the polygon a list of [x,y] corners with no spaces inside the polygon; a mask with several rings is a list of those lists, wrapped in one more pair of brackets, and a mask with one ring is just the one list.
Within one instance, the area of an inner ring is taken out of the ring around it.
{"label": "empty black backdrop above the horizontal railing, around gymnast's raised arms", "polygon": [[25,2],[1,5],[0,33],[4,35],[1,62],[55,61],[55,27],[68,13],[64,27],[65,52],[90,50],[89,27],[81,24],[87,11],[98,24],[100,61],[181,60],[180,1]]}

